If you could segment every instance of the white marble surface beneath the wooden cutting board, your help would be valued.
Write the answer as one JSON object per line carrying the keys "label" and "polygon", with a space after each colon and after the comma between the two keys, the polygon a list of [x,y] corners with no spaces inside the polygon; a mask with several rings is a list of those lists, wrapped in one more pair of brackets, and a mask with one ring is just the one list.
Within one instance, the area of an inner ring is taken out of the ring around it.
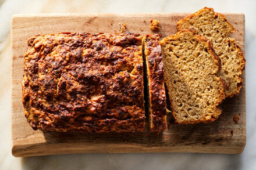
{"label": "white marble surface beneath the wooden cutting board", "polygon": [[[10,131],[10,20],[27,13],[216,12],[246,16],[247,144],[242,154],[70,154],[15,158]],[[256,1],[7,1],[0,0],[0,169],[256,169]]]}

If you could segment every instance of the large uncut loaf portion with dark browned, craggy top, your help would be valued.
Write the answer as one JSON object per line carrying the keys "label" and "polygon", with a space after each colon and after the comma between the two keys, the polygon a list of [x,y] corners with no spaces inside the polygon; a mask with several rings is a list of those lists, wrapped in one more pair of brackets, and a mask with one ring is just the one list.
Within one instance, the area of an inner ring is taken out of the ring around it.
{"label": "large uncut loaf portion with dark browned, craggy top", "polygon": [[30,38],[22,90],[32,128],[143,131],[142,37],[63,33]]}

